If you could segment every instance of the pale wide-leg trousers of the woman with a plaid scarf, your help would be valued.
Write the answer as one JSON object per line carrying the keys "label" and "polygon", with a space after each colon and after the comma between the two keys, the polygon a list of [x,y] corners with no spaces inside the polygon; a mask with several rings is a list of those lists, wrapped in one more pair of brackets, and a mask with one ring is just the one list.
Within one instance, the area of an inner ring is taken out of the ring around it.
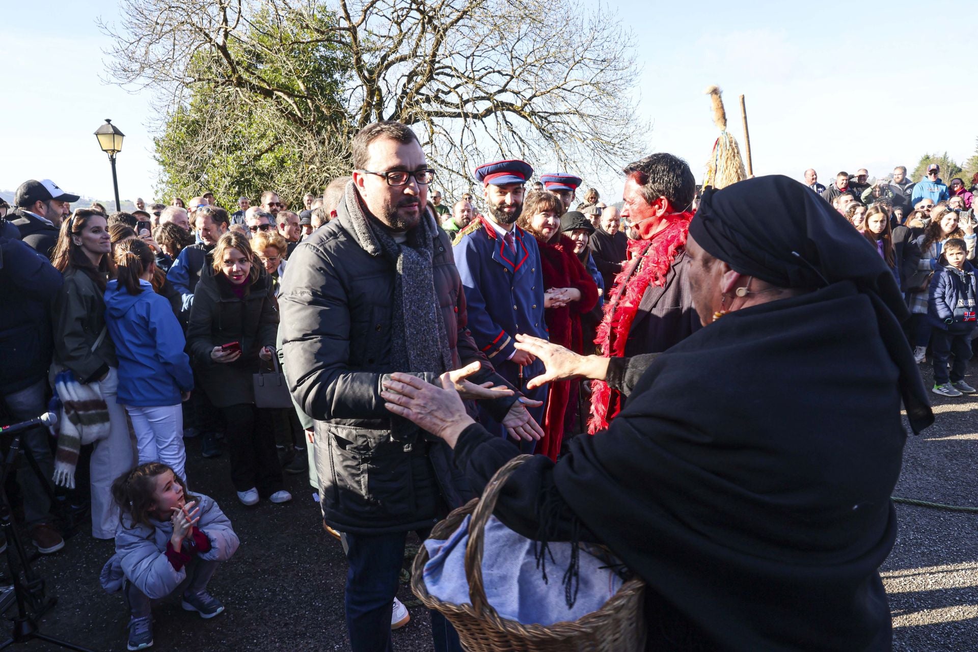
{"label": "pale wide-leg trousers of the woman with a plaid scarf", "polygon": [[88,467],[92,479],[92,536],[96,539],[114,539],[119,510],[112,500],[112,482],[132,468],[135,454],[125,409],[115,402],[115,390],[118,388],[116,370],[110,367],[109,375],[100,385],[109,408],[109,436],[95,443]]}

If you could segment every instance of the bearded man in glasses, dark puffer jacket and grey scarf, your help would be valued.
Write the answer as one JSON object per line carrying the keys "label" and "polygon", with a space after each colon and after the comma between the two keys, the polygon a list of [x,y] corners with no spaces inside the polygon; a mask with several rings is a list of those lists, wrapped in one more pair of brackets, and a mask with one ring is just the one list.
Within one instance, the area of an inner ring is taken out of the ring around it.
{"label": "bearded man in glasses, dark puffer jacket and grey scarf", "polygon": [[[448,447],[384,409],[382,383],[405,370],[434,382],[479,362],[471,382],[453,374],[463,396],[485,397],[513,436],[542,431],[524,399],[475,386],[505,381],[468,333],[451,243],[425,209],[433,172],[414,132],[378,122],[357,134],[352,151],[353,181],[337,217],[289,258],[280,327],[289,390],[316,420],[324,520],[343,533],[350,564],[350,646],[379,652],[391,649],[407,532],[423,539],[470,498]],[[435,648],[459,649],[451,626],[434,613],[432,621]]]}

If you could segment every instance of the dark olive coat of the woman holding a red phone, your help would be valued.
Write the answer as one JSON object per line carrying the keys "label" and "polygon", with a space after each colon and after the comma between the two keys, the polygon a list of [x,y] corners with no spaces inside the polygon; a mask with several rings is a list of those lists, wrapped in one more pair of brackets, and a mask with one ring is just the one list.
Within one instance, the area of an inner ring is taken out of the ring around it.
{"label": "dark olive coat of the woman holding a red phone", "polygon": [[[255,261],[252,265],[260,264]],[[258,371],[258,352],[275,348],[279,313],[264,269],[243,298],[231,290],[223,274],[201,274],[187,328],[187,348],[200,377],[200,386],[217,408],[254,403],[251,375]],[[242,355],[233,363],[215,363],[215,346],[239,342]]]}

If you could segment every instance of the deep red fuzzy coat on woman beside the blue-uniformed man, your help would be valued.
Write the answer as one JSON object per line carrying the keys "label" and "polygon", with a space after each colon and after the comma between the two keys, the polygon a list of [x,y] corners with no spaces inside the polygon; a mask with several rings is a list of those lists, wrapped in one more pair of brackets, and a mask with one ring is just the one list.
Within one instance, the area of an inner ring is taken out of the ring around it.
{"label": "deep red fuzzy coat on woman beside the blue-uniformed man", "polygon": [[[584,265],[574,255],[574,242],[566,236],[552,242],[541,242],[540,259],[543,264],[544,289],[552,287],[576,287],[581,299],[562,308],[548,308],[544,313],[550,340],[575,353],[584,351],[581,334],[581,315],[587,314],[598,303],[598,285]],[[537,444],[536,452],[556,461],[563,439],[564,414],[578,381],[552,382],[547,393],[547,413],[544,418],[544,438]]]}

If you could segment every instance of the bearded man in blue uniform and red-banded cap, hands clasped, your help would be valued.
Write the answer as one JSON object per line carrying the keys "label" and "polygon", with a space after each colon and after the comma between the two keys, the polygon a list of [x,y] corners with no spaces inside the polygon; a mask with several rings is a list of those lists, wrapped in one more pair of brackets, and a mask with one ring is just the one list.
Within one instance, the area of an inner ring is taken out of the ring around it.
{"label": "bearded man in blue uniform and red-banded cap, hands clasped", "polygon": [[[543,373],[532,355],[517,351],[516,333],[547,339],[544,321],[544,276],[540,250],[533,236],[516,226],[523,209],[525,184],[533,168],[521,160],[501,160],[475,169],[484,186],[487,216],[477,216],[455,239],[455,264],[462,277],[468,304],[468,328],[475,344],[496,371],[531,401],[527,404],[537,423],[542,422],[547,386],[527,390],[524,379]],[[480,420],[490,432],[505,429],[481,410]],[[521,442],[532,453],[535,442]]]}

